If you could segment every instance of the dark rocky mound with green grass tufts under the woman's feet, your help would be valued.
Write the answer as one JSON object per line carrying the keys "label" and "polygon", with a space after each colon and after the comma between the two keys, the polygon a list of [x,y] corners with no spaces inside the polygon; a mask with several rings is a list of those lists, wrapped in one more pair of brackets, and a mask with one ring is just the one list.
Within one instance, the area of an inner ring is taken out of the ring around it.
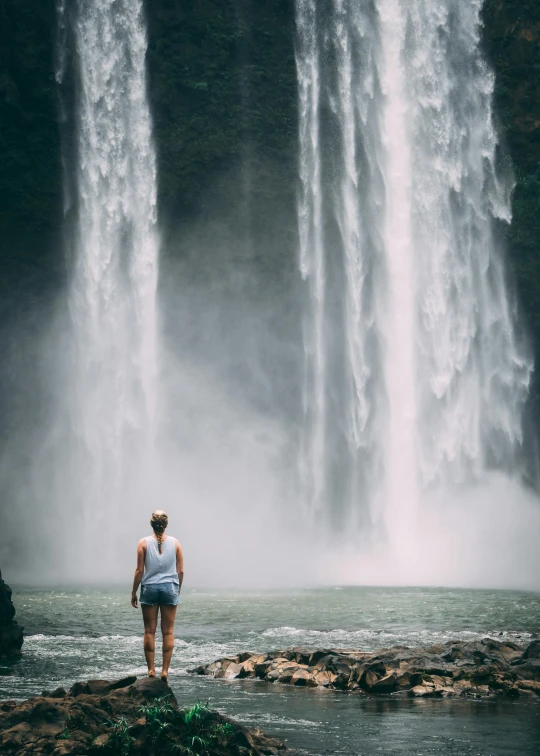
{"label": "dark rocky mound with green grass tufts under the woman's feet", "polygon": [[0,752],[8,756],[275,756],[284,748],[203,704],[180,709],[156,678],[90,680],[0,703]]}

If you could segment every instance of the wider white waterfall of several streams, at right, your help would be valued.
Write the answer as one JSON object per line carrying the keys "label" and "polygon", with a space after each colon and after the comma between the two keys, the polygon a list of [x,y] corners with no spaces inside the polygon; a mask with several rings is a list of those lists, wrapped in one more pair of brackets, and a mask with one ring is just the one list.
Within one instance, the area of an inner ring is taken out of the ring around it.
{"label": "wider white waterfall of several streams, at right", "polygon": [[402,541],[432,494],[520,475],[532,362],[481,9],[296,0],[301,483],[356,540]]}

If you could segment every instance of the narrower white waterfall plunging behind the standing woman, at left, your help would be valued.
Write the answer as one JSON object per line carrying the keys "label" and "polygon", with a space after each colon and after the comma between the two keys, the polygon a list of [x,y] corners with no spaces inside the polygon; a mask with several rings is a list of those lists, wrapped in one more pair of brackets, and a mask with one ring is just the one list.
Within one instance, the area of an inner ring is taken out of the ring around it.
{"label": "narrower white waterfall plunging behind the standing woman, at left", "polygon": [[[65,4],[60,44],[66,43]],[[157,411],[156,155],[142,0],[78,0],[69,457],[86,527],[148,497]],[[66,55],[60,50],[65,74]],[[148,501],[148,498],[146,498]],[[146,508],[151,507],[148,503]]]}

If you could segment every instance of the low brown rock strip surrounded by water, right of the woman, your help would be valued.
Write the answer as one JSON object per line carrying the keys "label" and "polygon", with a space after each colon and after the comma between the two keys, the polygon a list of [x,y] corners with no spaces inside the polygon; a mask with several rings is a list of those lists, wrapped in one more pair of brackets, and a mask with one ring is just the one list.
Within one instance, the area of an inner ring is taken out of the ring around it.
{"label": "low brown rock strip surrounded by water, right of the woman", "polygon": [[246,651],[189,671],[224,680],[259,678],[367,695],[534,697],[540,696],[540,640],[526,648],[484,638],[373,652],[339,648]]}

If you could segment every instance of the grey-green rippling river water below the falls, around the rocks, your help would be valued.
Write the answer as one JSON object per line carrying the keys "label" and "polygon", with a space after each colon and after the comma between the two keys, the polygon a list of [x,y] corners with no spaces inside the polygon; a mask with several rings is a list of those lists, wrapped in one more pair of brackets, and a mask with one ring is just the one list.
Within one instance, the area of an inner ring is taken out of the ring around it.
{"label": "grey-green rippling river water below the falls, around the rocks", "polygon": [[[145,673],[140,612],[129,588],[19,588],[23,659],[0,667],[0,697],[25,698],[76,680]],[[526,644],[540,633],[540,594],[439,588],[196,591],[182,594],[171,686],[263,727],[309,754],[538,754],[540,706],[518,702],[371,699],[187,669],[237,650],[291,645],[375,649],[490,635]],[[159,651],[159,648],[158,648]]]}

